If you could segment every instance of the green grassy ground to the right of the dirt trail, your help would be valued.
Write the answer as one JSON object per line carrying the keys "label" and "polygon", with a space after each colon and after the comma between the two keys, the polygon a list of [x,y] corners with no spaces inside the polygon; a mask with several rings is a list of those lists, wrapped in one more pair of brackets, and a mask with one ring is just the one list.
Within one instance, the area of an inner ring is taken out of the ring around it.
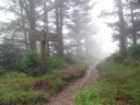
{"label": "green grassy ground to the right of the dirt trail", "polygon": [[104,61],[100,82],[79,92],[77,105],[140,105],[140,68]]}

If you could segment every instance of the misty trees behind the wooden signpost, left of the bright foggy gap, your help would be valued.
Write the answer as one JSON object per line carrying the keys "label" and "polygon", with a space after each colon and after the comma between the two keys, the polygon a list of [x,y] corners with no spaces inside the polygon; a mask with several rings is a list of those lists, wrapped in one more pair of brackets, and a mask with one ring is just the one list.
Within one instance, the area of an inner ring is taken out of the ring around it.
{"label": "misty trees behind the wooden signpost, left of the bright foggy gap", "polygon": [[[1,11],[14,14],[14,19],[1,22],[0,33],[3,42],[14,43],[22,50],[36,50],[30,31],[57,34],[57,42],[47,40],[47,54],[65,56],[72,51],[82,57],[89,55],[92,35],[97,31],[91,23],[91,0],[7,0]],[[67,31],[67,34],[63,34]],[[68,43],[69,42],[69,43]],[[74,49],[74,50],[73,50]]]}

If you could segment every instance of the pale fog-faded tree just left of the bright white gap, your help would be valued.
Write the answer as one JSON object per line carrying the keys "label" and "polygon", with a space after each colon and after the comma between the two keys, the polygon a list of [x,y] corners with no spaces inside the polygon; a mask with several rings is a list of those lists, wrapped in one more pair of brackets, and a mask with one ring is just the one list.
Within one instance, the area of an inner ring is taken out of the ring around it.
{"label": "pale fog-faded tree just left of the bright white gap", "polygon": [[[70,30],[69,38],[71,38],[70,46],[73,46],[71,49],[75,49],[75,56],[81,58],[89,54],[89,43],[92,35],[95,34],[94,25],[91,25],[91,16],[89,14],[90,9],[89,5],[90,0],[81,0],[74,1],[74,4],[78,4],[79,8],[73,9],[70,18],[71,21],[67,25]],[[93,27],[92,27],[93,26]]]}

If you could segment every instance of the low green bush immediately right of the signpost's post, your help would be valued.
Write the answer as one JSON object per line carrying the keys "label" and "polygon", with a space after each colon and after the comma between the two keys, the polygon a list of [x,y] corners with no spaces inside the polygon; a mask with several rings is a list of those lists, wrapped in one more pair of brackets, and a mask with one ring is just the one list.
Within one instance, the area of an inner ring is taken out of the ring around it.
{"label": "low green bush immediately right of the signpost's post", "polygon": [[52,56],[52,57],[47,58],[47,70],[48,71],[51,71],[54,69],[61,69],[66,67],[67,67],[67,62],[65,61],[65,59],[62,59],[59,56]]}

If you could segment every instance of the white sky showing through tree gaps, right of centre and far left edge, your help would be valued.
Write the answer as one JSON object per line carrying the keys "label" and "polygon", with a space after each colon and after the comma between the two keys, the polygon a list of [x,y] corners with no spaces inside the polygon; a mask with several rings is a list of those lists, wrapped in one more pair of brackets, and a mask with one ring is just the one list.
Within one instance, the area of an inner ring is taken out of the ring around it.
{"label": "white sky showing through tree gaps, right of centre and far left edge", "polygon": [[[92,0],[94,2],[96,0]],[[94,36],[98,43],[103,45],[103,51],[107,54],[112,54],[116,50],[116,43],[112,42],[112,30],[107,27],[103,22],[104,20],[97,18],[102,10],[112,11],[114,0],[97,0],[98,3],[93,8],[91,14],[93,16],[93,22],[96,22],[97,26],[100,27],[100,32],[97,35]],[[2,1],[0,0],[0,5],[2,5]],[[0,21],[7,21],[7,19],[13,18],[13,15],[8,13],[1,13],[0,11]],[[113,21],[113,19],[109,19]]]}

